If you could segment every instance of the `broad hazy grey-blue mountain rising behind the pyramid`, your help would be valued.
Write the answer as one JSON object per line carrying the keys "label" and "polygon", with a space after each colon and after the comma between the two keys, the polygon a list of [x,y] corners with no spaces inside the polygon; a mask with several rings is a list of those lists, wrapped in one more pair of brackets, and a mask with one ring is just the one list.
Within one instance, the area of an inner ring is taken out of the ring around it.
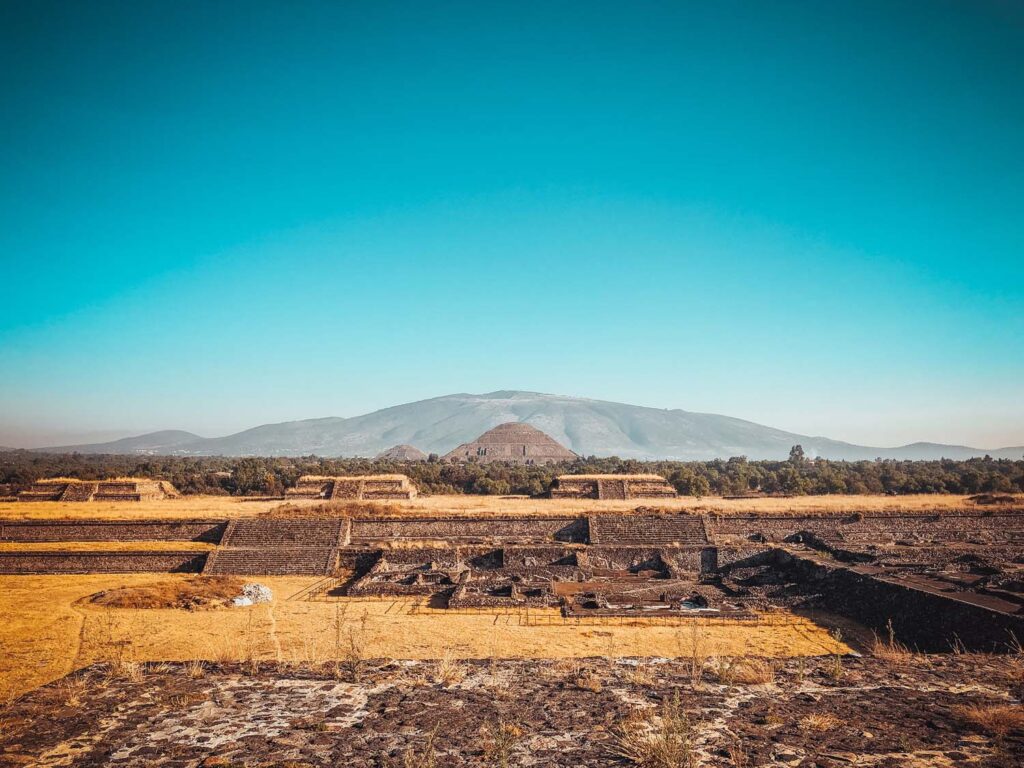
{"label": "broad hazy grey-blue mountain rising behind the pyramid", "polygon": [[113,442],[40,449],[83,454],[180,456],[377,456],[395,444],[443,455],[505,422],[525,422],[581,456],[697,461],[730,456],[784,459],[800,443],[828,459],[1019,459],[1024,447],[997,450],[915,442],[884,449],[785,432],[716,414],[627,406],[585,397],[502,391],[450,394],[350,419],[264,424],[226,437],[165,431]]}

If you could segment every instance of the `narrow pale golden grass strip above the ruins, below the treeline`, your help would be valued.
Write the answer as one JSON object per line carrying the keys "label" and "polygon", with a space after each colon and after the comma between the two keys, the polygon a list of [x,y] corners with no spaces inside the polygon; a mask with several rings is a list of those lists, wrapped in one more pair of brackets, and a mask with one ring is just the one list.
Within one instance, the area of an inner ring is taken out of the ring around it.
{"label": "narrow pale golden grass strip above the ruins, below the treeline", "polygon": [[[138,503],[116,502],[0,502],[0,517],[10,519],[47,519],[61,517],[91,517],[102,519],[140,518],[216,518],[247,517],[265,514],[281,506],[281,500],[246,500],[222,496],[193,496],[181,499]],[[323,503],[323,502],[321,502]],[[289,500],[291,506],[314,506],[315,501]],[[965,496],[803,496],[769,499],[659,499],[654,501],[593,501],[573,499],[523,499],[494,496],[421,496],[409,501],[359,502],[359,506],[373,506],[385,514],[403,514],[416,517],[438,515],[523,515],[600,514],[623,513],[638,507],[655,507],[692,513],[758,514],[792,513],[816,514],[828,512],[928,512],[956,509],[977,509]],[[1024,505],[1018,497],[1014,505]],[[992,509],[992,507],[984,507]]]}

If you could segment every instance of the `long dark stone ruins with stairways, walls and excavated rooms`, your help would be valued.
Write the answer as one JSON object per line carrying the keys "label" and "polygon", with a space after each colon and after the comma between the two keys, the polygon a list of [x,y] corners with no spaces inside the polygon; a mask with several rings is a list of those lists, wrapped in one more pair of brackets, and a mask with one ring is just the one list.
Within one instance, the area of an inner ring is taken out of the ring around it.
{"label": "long dark stone ruins with stairways, walls and excavated rooms", "polygon": [[[922,650],[1024,639],[1019,511],[233,520],[0,520],[2,573],[190,570],[322,578],[310,595],[453,610],[759,620],[823,608]],[[210,551],[33,550],[34,542],[205,541]],[[319,590],[316,592],[316,590]]]}

